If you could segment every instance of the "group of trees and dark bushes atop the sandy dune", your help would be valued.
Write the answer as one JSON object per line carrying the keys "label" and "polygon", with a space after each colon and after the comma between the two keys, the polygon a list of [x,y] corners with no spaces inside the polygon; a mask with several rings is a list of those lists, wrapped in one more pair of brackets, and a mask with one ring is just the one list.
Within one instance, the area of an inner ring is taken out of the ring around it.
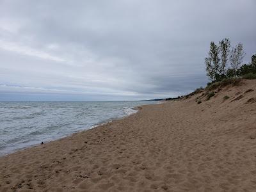
{"label": "group of trees and dark bushes atop the sandy dune", "polygon": [[256,79],[256,54],[250,63],[243,64],[243,44],[231,47],[229,38],[224,38],[216,44],[211,42],[208,57],[205,58],[205,70],[211,83],[232,77],[248,76]]}

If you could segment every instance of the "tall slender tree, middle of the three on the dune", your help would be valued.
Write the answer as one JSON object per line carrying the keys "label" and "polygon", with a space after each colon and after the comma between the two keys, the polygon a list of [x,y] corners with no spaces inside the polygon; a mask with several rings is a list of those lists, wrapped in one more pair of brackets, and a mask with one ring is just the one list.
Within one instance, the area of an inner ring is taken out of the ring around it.
{"label": "tall slender tree, middle of the three on the dune", "polygon": [[220,75],[221,79],[224,79],[227,76],[227,64],[228,64],[228,55],[230,52],[230,40],[229,38],[224,38],[219,42],[220,47]]}

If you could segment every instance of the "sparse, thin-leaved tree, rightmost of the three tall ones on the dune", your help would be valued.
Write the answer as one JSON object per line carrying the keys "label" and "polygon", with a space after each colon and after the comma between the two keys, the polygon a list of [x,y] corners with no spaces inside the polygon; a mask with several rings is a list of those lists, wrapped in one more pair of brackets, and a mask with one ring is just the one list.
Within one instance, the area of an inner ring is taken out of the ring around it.
{"label": "sparse, thin-leaved tree, rightmost of the three tall ones on the dune", "polygon": [[234,70],[234,75],[237,76],[239,66],[241,65],[244,58],[243,44],[237,44],[236,47],[232,47],[230,52],[230,65]]}

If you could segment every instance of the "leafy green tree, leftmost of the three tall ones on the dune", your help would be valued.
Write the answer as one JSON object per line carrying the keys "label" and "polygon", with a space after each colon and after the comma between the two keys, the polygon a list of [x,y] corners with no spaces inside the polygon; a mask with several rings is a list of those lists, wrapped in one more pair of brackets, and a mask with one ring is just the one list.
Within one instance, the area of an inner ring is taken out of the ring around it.
{"label": "leafy green tree, leftmost of the three tall ones on the dune", "polygon": [[214,42],[210,44],[210,51],[208,58],[205,58],[207,76],[213,81],[220,80],[220,49]]}

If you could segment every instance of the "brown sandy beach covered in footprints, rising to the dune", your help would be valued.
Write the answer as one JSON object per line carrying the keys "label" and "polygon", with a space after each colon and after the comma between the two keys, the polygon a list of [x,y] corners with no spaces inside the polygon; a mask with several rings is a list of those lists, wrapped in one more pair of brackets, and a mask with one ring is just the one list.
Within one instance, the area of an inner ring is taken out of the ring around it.
{"label": "brown sandy beach covered in footprints, rising to the dune", "polygon": [[256,80],[242,83],[1,157],[0,191],[256,191]]}

